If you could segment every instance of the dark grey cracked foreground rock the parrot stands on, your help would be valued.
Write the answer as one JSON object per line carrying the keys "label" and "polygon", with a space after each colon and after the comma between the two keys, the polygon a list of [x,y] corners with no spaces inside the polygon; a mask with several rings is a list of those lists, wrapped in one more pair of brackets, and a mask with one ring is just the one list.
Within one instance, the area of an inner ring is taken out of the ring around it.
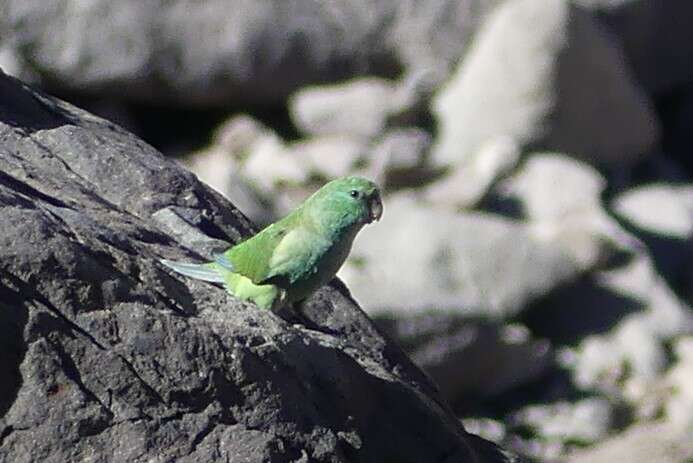
{"label": "dark grey cracked foreground rock the parrot stands on", "polygon": [[509,461],[338,282],[308,329],[164,270],[251,224],[2,74],[0,217],[0,461]]}

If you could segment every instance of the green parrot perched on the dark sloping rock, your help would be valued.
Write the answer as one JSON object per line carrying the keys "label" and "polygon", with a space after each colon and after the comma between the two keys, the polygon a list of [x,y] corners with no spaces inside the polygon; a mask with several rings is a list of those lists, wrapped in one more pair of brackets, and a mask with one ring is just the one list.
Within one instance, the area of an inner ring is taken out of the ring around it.
{"label": "green parrot perched on the dark sloping rock", "polygon": [[344,263],[361,228],[383,213],[375,183],[333,180],[283,219],[215,256],[213,262],[162,262],[183,275],[221,283],[242,300],[277,310],[308,297]]}

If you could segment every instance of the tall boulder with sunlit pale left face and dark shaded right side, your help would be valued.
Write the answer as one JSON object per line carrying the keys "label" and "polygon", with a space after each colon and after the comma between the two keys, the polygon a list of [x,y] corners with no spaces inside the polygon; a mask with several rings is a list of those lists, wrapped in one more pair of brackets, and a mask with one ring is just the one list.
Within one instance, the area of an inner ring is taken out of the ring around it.
{"label": "tall boulder with sunlit pale left face and dark shaded right side", "polygon": [[473,163],[489,139],[564,151],[603,165],[632,163],[658,122],[618,43],[568,0],[499,6],[436,95],[434,161]]}

